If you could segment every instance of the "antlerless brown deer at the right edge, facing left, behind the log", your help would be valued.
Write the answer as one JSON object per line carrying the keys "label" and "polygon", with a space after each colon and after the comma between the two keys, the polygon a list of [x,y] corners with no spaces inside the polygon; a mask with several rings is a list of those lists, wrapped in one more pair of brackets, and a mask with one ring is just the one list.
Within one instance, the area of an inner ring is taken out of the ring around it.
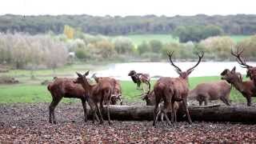
{"label": "antlerless brown deer at the right edge, facing left, behind the log", "polygon": [[247,106],[251,106],[251,97],[256,97],[256,86],[253,81],[242,82],[242,74],[237,73],[234,68],[222,71],[222,79],[235,87],[247,100]]}

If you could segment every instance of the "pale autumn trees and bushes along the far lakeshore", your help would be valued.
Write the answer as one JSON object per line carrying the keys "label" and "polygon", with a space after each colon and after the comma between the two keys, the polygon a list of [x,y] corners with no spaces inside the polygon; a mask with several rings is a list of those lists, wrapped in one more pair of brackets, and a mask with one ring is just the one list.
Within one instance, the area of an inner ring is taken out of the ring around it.
{"label": "pale autumn trees and bushes along the far lakeshore", "polygon": [[200,42],[165,43],[150,40],[135,46],[126,37],[113,38],[82,33],[70,39],[70,32],[66,34],[0,34],[0,64],[12,66],[14,69],[54,70],[75,61],[159,62],[166,61],[168,51],[175,51],[174,57],[179,61],[193,61],[197,59],[200,51],[205,52],[206,61],[230,61],[234,60],[230,50],[236,46],[245,49],[243,56],[246,60],[256,60],[256,35],[238,43],[228,36],[215,36]]}

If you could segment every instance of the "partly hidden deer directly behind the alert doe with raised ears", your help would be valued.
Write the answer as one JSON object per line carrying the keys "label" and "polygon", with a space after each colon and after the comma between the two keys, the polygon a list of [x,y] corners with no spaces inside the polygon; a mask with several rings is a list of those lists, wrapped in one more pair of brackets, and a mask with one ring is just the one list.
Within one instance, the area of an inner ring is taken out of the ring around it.
{"label": "partly hidden deer directly behind the alert doe with raised ears", "polygon": [[122,88],[120,85],[120,82],[114,78],[109,78],[109,77],[96,77],[96,74],[93,74],[91,78],[94,78],[95,82],[99,82],[102,79],[109,79],[112,86],[114,89],[112,90],[112,95],[111,95],[111,105],[116,105],[118,100],[120,101],[120,105],[122,105]]}

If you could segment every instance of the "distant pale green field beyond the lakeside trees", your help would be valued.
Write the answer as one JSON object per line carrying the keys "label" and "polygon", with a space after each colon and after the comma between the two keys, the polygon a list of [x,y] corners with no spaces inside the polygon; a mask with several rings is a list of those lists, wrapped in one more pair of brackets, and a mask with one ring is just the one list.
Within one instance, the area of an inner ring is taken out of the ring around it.
{"label": "distant pale green field beyond the lakeside trees", "polygon": [[[124,37],[130,38],[136,46],[141,44],[143,41],[149,42],[150,40],[157,39],[163,43],[166,42],[178,42],[178,38],[173,38],[170,34],[133,34],[126,35]],[[246,35],[231,35],[234,42],[240,42],[249,36]]]}

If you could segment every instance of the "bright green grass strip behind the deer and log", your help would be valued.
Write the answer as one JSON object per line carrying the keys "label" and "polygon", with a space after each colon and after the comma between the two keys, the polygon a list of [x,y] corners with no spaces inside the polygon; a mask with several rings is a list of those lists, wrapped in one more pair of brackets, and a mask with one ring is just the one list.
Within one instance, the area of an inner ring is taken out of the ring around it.
{"label": "bright green grass strip behind the deer and log", "polygon": [[[213,82],[219,80],[219,77],[194,77],[190,78],[190,89],[194,88],[201,82]],[[154,86],[152,81],[152,86]],[[141,94],[140,90],[136,90],[136,86],[131,81],[122,81],[122,95],[127,102],[142,101],[138,98],[138,94]],[[243,98],[238,90],[232,90],[231,100],[233,102],[246,102],[246,98]],[[46,86],[39,84],[16,84],[16,85],[1,85],[0,86],[0,102],[12,103],[12,102],[50,102],[51,96]],[[63,98],[62,102],[80,102],[75,98]],[[254,102],[256,102],[254,100]]]}

